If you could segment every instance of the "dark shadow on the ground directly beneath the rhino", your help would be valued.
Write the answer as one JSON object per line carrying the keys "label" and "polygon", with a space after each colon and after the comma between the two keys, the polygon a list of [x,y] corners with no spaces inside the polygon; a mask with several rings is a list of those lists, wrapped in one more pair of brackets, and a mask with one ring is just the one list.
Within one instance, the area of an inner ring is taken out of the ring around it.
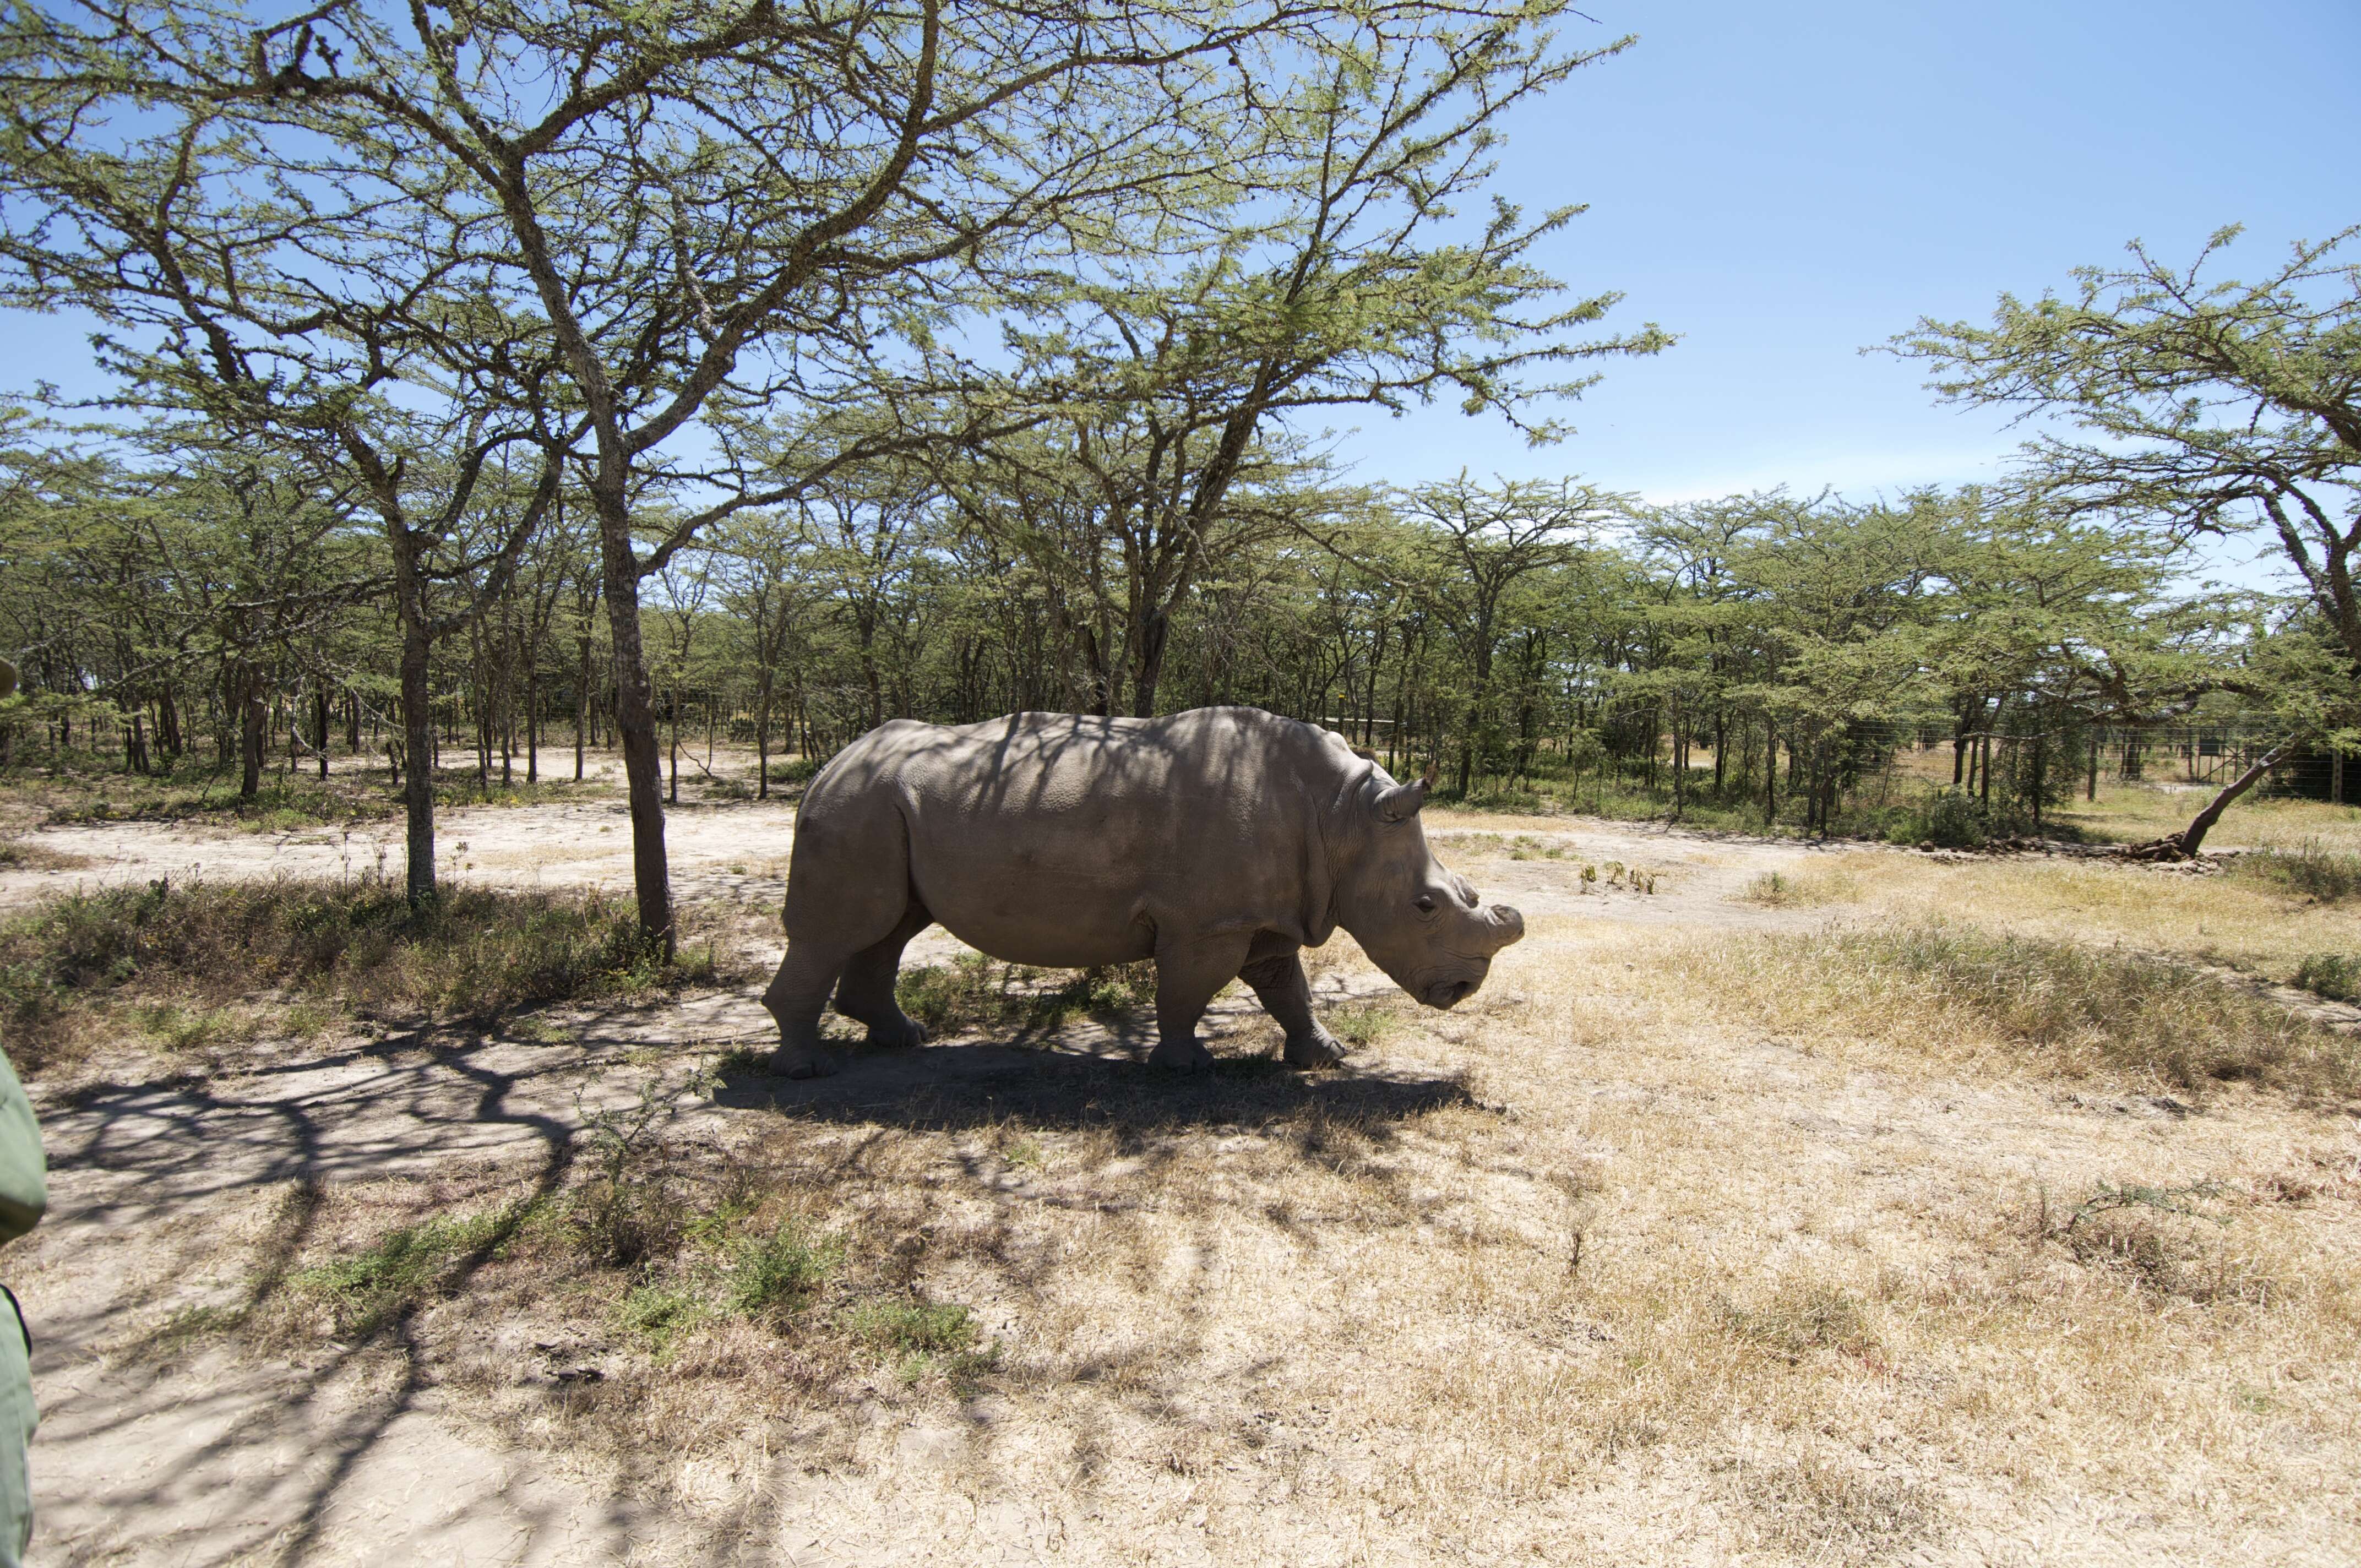
{"label": "dark shadow on the ground directly beneath the rhino", "polygon": [[1421,1077],[1350,1065],[1299,1072],[1270,1058],[1218,1058],[1214,1072],[1171,1074],[1131,1053],[949,1041],[914,1051],[857,1051],[824,1079],[722,1074],[715,1103],[774,1108],[826,1122],[956,1131],[1025,1122],[1041,1129],[1268,1126],[1303,1115],[1400,1122],[1445,1105],[1476,1105],[1461,1074]]}

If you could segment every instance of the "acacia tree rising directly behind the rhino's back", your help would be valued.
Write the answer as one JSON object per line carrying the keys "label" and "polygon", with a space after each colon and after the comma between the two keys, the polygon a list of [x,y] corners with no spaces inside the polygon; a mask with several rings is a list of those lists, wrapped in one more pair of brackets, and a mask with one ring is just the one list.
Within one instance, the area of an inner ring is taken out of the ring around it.
{"label": "acacia tree rising directly behind the rhino's back", "polygon": [[1554,439],[1530,409],[1594,380],[1568,366],[1669,342],[1655,326],[1575,338],[1620,295],[1570,295],[1532,248],[1580,208],[1459,210],[1485,194],[1518,104],[1631,43],[1565,50],[1551,28],[1568,12],[1476,0],[1450,28],[1355,14],[1301,104],[1261,128],[1256,177],[1173,215],[1018,338],[1055,413],[1032,444],[985,453],[985,489],[1046,494],[1053,517],[973,515],[1022,524],[1011,538],[1029,545],[1086,536],[1062,555],[1119,616],[1098,619],[1119,623],[1133,713],[1157,711],[1173,616],[1204,574],[1289,529],[1315,472],[1291,425],[1452,394]]}

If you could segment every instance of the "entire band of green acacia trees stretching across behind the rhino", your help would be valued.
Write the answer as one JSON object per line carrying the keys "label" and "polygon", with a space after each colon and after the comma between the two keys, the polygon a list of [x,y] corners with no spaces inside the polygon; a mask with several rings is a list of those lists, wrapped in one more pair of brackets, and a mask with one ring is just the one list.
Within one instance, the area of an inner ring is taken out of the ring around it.
{"label": "entire band of green acacia trees stretching across behind the rhino", "polygon": [[[699,723],[763,789],[904,713],[1258,701],[1461,796],[1662,767],[1674,810],[1818,829],[1896,723],[2033,810],[2075,725],[2347,723],[2344,236],[1898,340],[1948,397],[2097,430],[2007,494],[1329,472],[1322,420],[1450,397],[1549,442],[1591,361],[1672,342],[1537,264],[1575,208],[1490,191],[1509,113],[1631,43],[1572,21],[9,7],[0,305],[92,321],[109,387],[0,430],[19,704],[104,708],[135,770],[201,730],[246,789],[281,737],[368,730],[420,902],[449,744],[531,777],[552,723],[604,734],[666,952]],[[2307,595],[2172,593],[2189,536],[2245,527]]]}

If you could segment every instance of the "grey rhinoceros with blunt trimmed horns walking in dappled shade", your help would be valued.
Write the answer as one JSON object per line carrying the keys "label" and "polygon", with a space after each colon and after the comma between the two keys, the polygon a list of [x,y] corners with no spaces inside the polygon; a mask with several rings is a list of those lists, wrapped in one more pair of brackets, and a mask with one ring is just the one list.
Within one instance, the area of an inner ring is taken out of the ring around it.
{"label": "grey rhinoceros with blunt trimmed horns walking in dappled shade", "polygon": [[831,992],[871,1044],[926,1039],[892,992],[902,945],[935,921],[1008,963],[1152,956],[1159,1067],[1214,1063],[1197,1018],[1240,978],[1287,1030],[1289,1063],[1329,1065],[1343,1048],[1313,1018],[1299,949],[1343,926],[1447,1008],[1525,935],[1516,909],[1480,907],[1435,864],[1426,789],[1258,708],[871,730],[819,770],[796,819],[786,959],[763,994],[777,1067],[836,1072],[819,1048]]}

